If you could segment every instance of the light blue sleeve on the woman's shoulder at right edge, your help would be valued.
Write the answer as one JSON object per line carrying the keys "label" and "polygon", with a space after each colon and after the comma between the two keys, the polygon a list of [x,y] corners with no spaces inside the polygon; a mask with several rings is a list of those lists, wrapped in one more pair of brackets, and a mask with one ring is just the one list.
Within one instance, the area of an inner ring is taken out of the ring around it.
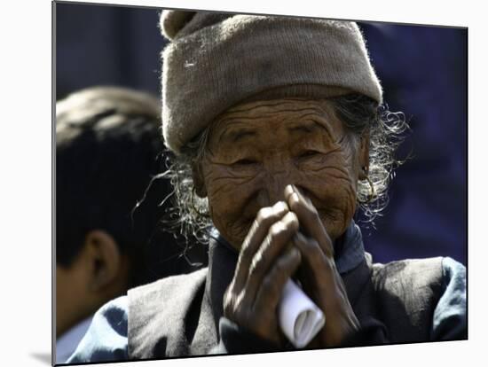
{"label": "light blue sleeve on the woman's shoulder at right edge", "polygon": [[434,310],[431,340],[468,338],[466,321],[466,268],[450,257],[442,261],[443,293]]}

